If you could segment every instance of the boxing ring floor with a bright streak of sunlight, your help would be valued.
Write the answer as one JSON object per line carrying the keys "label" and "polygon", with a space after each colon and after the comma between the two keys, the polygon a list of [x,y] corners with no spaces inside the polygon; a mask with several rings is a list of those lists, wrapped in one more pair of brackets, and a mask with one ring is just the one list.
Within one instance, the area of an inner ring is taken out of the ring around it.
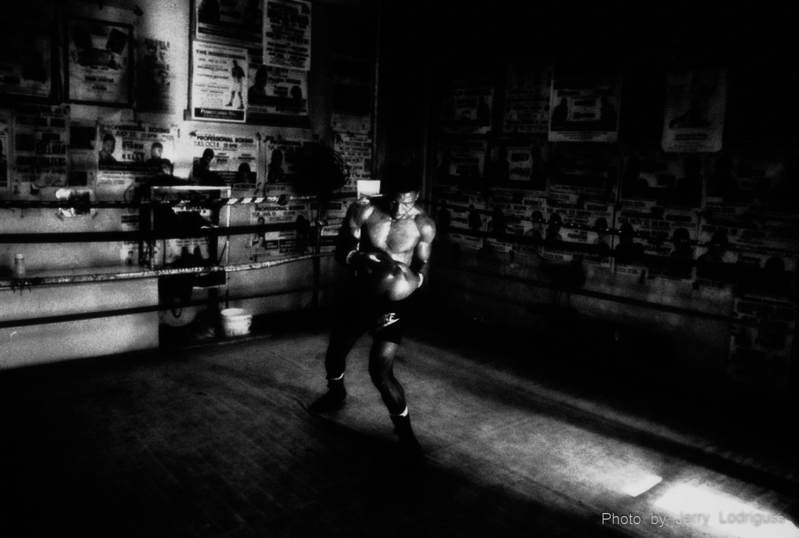
{"label": "boxing ring floor with a bright streak of sunlight", "polygon": [[324,323],[0,372],[0,536],[799,536],[795,423],[541,374],[475,330],[415,326],[400,347],[419,465],[396,453],[368,336],[347,404],[304,410]]}

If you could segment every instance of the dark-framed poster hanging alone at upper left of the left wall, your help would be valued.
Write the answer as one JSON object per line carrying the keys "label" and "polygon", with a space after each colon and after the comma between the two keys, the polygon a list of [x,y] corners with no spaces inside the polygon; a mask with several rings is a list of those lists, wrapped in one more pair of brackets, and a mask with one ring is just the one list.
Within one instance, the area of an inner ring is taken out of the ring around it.
{"label": "dark-framed poster hanging alone at upper left of the left wall", "polygon": [[89,18],[64,22],[66,101],[133,104],[133,26]]}

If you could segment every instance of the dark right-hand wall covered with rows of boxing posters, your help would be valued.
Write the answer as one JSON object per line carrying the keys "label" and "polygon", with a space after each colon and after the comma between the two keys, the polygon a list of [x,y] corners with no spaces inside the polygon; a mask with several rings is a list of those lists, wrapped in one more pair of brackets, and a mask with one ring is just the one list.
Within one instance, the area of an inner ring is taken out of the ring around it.
{"label": "dark right-hand wall covered with rows of boxing posters", "polygon": [[[785,389],[797,372],[797,106],[769,114],[753,97],[776,88],[769,98],[787,103],[796,77],[769,59],[792,49],[772,35],[779,18],[744,12],[729,34],[694,34],[666,7],[429,10],[427,194],[438,276],[454,284],[442,303],[531,330],[531,309],[570,295],[617,327],[611,337],[670,338],[674,368]],[[463,263],[529,284],[452,268]]]}

